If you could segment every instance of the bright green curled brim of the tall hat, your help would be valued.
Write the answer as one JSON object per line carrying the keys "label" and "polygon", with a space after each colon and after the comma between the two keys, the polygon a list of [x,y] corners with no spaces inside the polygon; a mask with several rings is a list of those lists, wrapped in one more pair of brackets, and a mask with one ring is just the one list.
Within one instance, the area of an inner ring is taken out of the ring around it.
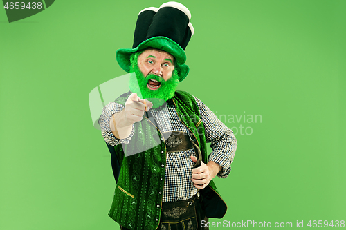
{"label": "bright green curled brim of the tall hat", "polygon": [[168,52],[170,55],[173,55],[176,59],[175,68],[178,70],[179,81],[181,82],[185,79],[189,73],[189,67],[184,64],[186,61],[185,51],[181,46],[176,44],[175,41],[172,41],[167,37],[152,37],[140,43],[136,48],[118,49],[116,50],[116,61],[118,61],[119,66],[123,70],[129,73],[131,54],[149,47],[163,50]]}

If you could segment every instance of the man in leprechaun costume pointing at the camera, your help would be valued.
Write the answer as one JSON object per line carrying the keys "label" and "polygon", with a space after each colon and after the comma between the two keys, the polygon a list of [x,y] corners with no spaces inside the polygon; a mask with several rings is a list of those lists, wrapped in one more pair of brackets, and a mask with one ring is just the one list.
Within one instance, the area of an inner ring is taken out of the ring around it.
{"label": "man in leprechaun costume pointing at the camera", "polygon": [[230,173],[237,141],[197,97],[176,91],[188,75],[190,17],[180,3],[146,8],[134,48],[116,52],[133,73],[130,92],[104,106],[99,123],[117,180],[109,216],[122,229],[206,229],[201,220],[226,213],[212,178]]}

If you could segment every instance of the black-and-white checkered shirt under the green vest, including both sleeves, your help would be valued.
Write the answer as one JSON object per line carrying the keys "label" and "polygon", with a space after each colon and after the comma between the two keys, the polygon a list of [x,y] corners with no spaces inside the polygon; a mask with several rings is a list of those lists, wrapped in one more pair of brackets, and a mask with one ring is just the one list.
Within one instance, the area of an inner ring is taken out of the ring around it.
{"label": "black-and-white checkered shirt under the green vest, including both sleeves", "polygon": [[[212,148],[212,153],[209,155],[209,161],[222,166],[222,170],[218,176],[220,178],[226,178],[230,173],[230,164],[235,156],[237,140],[233,132],[217,119],[215,114],[201,100],[197,99],[197,97],[194,97],[194,99],[196,99],[197,105],[199,106],[200,118],[205,127],[206,142],[211,142],[210,147]],[[131,135],[121,140],[114,137],[111,132],[109,128],[111,116],[114,113],[122,111],[122,108],[124,106],[121,104],[110,102],[107,106],[104,106],[99,119],[102,136],[107,144],[111,146],[122,143],[128,144],[135,132],[133,126]],[[188,132],[187,128],[180,122],[171,100],[167,101],[167,106],[161,106],[156,109],[152,108],[150,111],[161,132]],[[197,189],[191,181],[191,172],[194,166],[194,162],[190,158],[191,155],[196,156],[193,149],[173,153],[167,152],[163,202],[186,200],[197,193]]]}

